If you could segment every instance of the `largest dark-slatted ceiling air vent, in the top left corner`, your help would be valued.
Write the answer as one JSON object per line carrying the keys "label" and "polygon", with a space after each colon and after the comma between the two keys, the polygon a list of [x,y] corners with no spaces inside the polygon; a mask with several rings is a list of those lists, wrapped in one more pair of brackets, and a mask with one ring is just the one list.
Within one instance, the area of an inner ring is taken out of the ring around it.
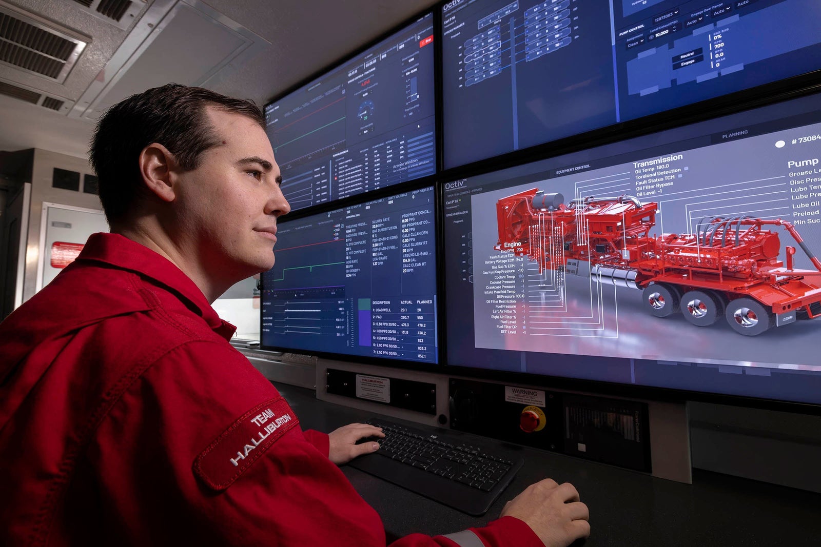
{"label": "largest dark-slatted ceiling air vent, in the top left corner", "polygon": [[89,39],[0,2],[0,62],[59,83],[66,81]]}

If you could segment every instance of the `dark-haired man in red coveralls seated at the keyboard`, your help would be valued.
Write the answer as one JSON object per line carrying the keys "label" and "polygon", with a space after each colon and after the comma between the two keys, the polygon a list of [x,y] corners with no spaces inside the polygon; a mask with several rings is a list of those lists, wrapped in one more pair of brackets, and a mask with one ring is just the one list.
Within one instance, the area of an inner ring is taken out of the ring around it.
{"label": "dark-haired man in red coveralls seated at the keyboard", "polygon": [[[0,324],[0,545],[385,545],[209,303],[273,267],[290,207],[258,107],[169,84],[112,107],[91,161],[110,234]],[[531,485],[488,526],[394,545],[569,545],[576,489]]]}

